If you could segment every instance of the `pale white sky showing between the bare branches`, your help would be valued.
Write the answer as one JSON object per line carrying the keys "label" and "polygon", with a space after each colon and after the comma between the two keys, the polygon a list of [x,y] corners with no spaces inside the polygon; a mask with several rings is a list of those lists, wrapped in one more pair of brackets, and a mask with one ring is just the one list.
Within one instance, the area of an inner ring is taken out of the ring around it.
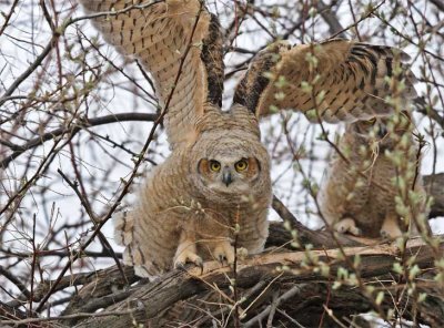
{"label": "pale white sky showing between the bare branches", "polygon": [[[37,2],[38,1],[33,0],[27,2],[28,4],[26,6],[20,4],[19,8],[17,9],[16,14],[11,20],[12,28],[8,28],[6,30],[6,33],[0,37],[0,44],[1,44],[0,94],[3,93],[4,86],[10,85],[13,82],[13,80],[21,72],[23,72],[23,70],[29,65],[29,63],[33,61],[36,55],[38,55],[41,52],[42,47],[44,47],[46,43],[49,41],[49,31],[46,22],[41,19],[42,18],[41,10],[37,7],[36,4]],[[224,1],[224,3],[229,3],[229,1]],[[221,6],[220,3],[218,4]],[[344,3],[344,6],[341,6],[341,10],[339,11],[341,16],[341,23],[343,25],[347,25],[351,22],[350,9],[345,4],[346,3]],[[4,1],[0,2],[0,11],[8,11],[9,6],[10,3],[4,3]],[[61,12],[64,12],[68,8],[69,8],[68,4],[60,8]],[[219,10],[222,10],[220,7],[218,8]],[[81,10],[78,10],[74,13],[74,16],[80,16],[80,14],[82,14]],[[3,17],[1,17],[0,19],[3,20]],[[430,19],[433,20],[433,17],[431,17]],[[2,25],[1,20],[0,20],[0,27]],[[320,22],[320,20],[321,19],[319,17],[315,19],[316,27],[322,23]],[[222,20],[223,25],[226,25],[228,22],[229,20],[226,19]],[[376,32],[380,29],[380,25],[376,24],[375,22],[376,22],[375,19],[371,19],[367,22],[363,23],[361,27],[362,31],[364,31],[369,35],[377,34]],[[403,25],[404,22],[396,21],[395,23],[400,25],[400,29],[402,31],[408,32],[407,27]],[[258,25],[253,21],[250,21],[249,24],[252,28],[258,28]],[[97,32],[89,24],[85,24],[82,31],[87,35],[97,34]],[[68,38],[75,38],[75,30],[68,29],[67,35]],[[326,28],[321,28],[316,30],[315,35],[311,34],[312,39],[315,40],[322,40],[322,38],[325,35],[327,35]],[[27,42],[24,42],[24,40]],[[244,37],[239,38],[236,44],[239,47],[246,49],[256,49],[259,44],[265,44],[268,40],[270,40],[270,37],[266,35],[266,33],[258,31],[254,38],[246,34]],[[30,45],[29,42],[31,41],[32,43],[40,45]],[[290,41],[292,43],[295,43],[300,42],[300,39],[299,37],[293,35],[290,38]],[[372,39],[372,42],[377,43],[379,41],[385,44],[400,43],[398,38],[396,37],[393,37],[392,40],[393,42],[391,42],[391,40],[381,40],[381,38],[377,37]],[[61,47],[63,49],[63,44],[61,44]],[[112,50],[112,48],[108,47],[103,48],[102,50],[105,51],[109,57],[115,59],[115,63],[118,65],[122,65],[123,60],[119,54],[117,54]],[[435,51],[435,44],[431,44],[431,50]],[[75,51],[81,51],[81,50],[77,49],[74,50],[74,52]],[[406,51],[412,57],[416,55],[415,53],[416,49],[413,47],[406,48]],[[88,58],[91,61],[100,60],[97,58],[95,53],[89,53]],[[229,54],[225,58],[228,65],[233,64],[239,60],[242,60],[242,58],[236,58],[233,54]],[[415,62],[413,66],[416,73],[418,72],[418,64],[420,62]],[[54,70],[52,65],[48,66],[47,69],[49,72]],[[67,65],[67,68],[64,69],[69,70],[69,65]],[[140,81],[140,83],[143,84],[144,88],[149,89],[148,83],[144,82],[143,76],[138,72],[138,69],[134,64],[127,66],[125,72],[128,72],[132,76],[135,76],[138,81]],[[49,74],[48,76],[51,76],[51,74]],[[20,93],[23,95],[27,94],[27,90],[30,90],[32,88],[32,83],[36,81],[36,79],[37,75],[33,75],[32,79],[26,81],[20,86]],[[125,82],[125,79],[122,78],[121,74],[119,73],[111,74],[105,80],[109,81],[110,83],[102,83],[101,89],[97,91],[97,95],[100,96],[100,102],[90,104],[91,111],[94,113],[93,116],[105,115],[109,113],[130,112],[130,111],[138,111],[138,112],[153,111],[153,107],[142,96],[140,98],[134,96],[132,92],[125,90],[125,88],[132,88],[132,85]],[[51,90],[51,86],[53,86],[54,82],[56,81],[50,81],[50,83],[48,83],[48,85],[44,85],[42,90]],[[234,82],[235,82],[234,80],[231,80],[226,83],[228,100],[231,98]],[[111,84],[118,86],[112,89],[110,88]],[[417,92],[420,94],[424,93],[425,86],[420,84],[417,86]],[[229,103],[230,101],[225,102],[225,106],[228,106]],[[13,110],[13,109],[6,107],[6,110]],[[443,109],[438,107],[437,110],[442,111]],[[40,122],[46,117],[46,115],[47,113],[44,112],[44,110],[42,110],[41,112],[32,113],[29,116],[29,119],[36,120],[36,122]],[[53,124],[51,129],[57,127],[54,123],[51,123]],[[285,151],[283,147],[284,145],[280,145],[278,150],[273,150],[274,148],[273,141],[275,141],[279,137],[279,134],[281,133],[280,125],[281,121],[279,117],[264,120],[264,122],[262,122],[261,124],[263,140],[264,142],[266,142],[270,151],[274,154],[279,153],[279,151]],[[313,182],[321,183],[323,172],[326,166],[326,163],[323,160],[327,157],[330,148],[325,144],[325,142],[315,140],[315,136],[320,134],[320,127],[313,124],[309,124],[307,121],[300,114],[292,115],[290,125],[293,125],[292,137],[295,141],[295,144],[304,145],[307,153],[312,153],[311,155],[316,158],[315,161],[302,160],[301,162],[303,165],[303,170],[309,173]],[[332,133],[334,133],[340,127],[337,125],[327,125],[327,126],[329,130],[332,131]],[[2,127],[8,130],[9,126],[6,124]],[[151,129],[150,123],[137,122],[137,123],[110,124],[107,126],[94,127],[93,131],[102,135],[109,135],[117,142],[132,140],[130,146],[133,150],[140,150],[142,143],[147,139],[150,129]],[[428,129],[430,129],[430,122],[427,120],[418,121],[420,131],[424,132]],[[436,131],[441,131],[437,126],[435,126],[435,129]],[[22,136],[28,136],[28,137],[31,136],[31,133],[29,131],[26,131],[24,129],[20,130],[19,133]],[[113,170],[111,172],[104,172],[103,170],[110,166],[109,161],[111,161],[111,158],[105,155],[102,148],[100,148],[97,145],[93,145],[89,141],[88,134],[80,133],[80,140],[82,141],[81,143],[84,144],[84,146],[81,146],[79,148],[80,153],[78,154],[78,156],[80,156],[83,161],[82,173],[85,174],[87,176],[97,176],[98,181],[100,181],[100,177],[102,177],[104,174],[107,176],[108,183],[103,188],[100,189],[100,193],[98,194],[98,197],[95,199],[97,202],[93,203],[97,213],[102,213],[103,208],[108,204],[112,203],[112,197],[115,195],[117,188],[119,187],[120,184],[120,180],[122,177],[125,177],[131,172],[132,170],[131,156],[129,156],[123,152],[119,152],[115,148],[107,146],[105,143],[103,143],[103,145],[105,145],[104,148],[108,152],[115,154],[121,162],[128,163],[127,166],[115,163],[115,165],[114,164],[112,165]],[[13,141],[17,141],[17,143],[19,144],[22,142],[18,139]],[[160,163],[162,162],[162,158],[168,155],[169,152],[163,134],[159,136],[159,144],[160,146],[155,148],[157,154],[153,156],[153,158]],[[34,164],[39,158],[39,155],[46,154],[51,146],[52,142],[47,142],[43,146],[40,146],[36,150],[36,153],[33,154],[33,156],[36,157]],[[273,163],[272,177],[275,182],[274,183],[275,194],[278,194],[284,201],[287,207],[306,225],[311,227],[320,227],[321,223],[317,219],[316,215],[309,214],[311,212],[315,212],[315,208],[313,202],[310,201],[310,197],[307,196],[306,192],[301,186],[302,182],[301,175],[294,172],[290,154],[283,157],[285,158],[285,161],[282,161],[281,163],[278,162]],[[20,176],[21,172],[23,172],[24,170],[22,164],[26,163],[26,158],[27,156],[23,155],[23,157],[20,157],[14,164],[12,164],[7,172],[8,176]],[[430,146],[424,154],[422,172],[424,174],[432,173],[432,164],[433,164],[433,148],[432,146]],[[57,174],[57,168],[59,167],[62,170],[65,168],[68,172],[71,171],[68,152],[62,152],[54,161],[53,165],[51,166],[46,177],[41,178],[38,182],[36,192],[38,192],[42,187],[50,185],[50,189],[46,194],[47,203],[42,203],[43,199],[37,193],[29,194],[22,202],[23,208],[21,212],[22,213],[21,218],[26,222],[30,222],[30,218],[34,213],[38,217],[39,221],[38,228],[40,229],[40,235],[39,235],[40,242],[43,242],[46,233],[49,229],[49,224],[50,224],[49,213],[51,212],[52,202],[54,202],[56,204],[54,206],[57,208],[57,212],[59,213],[56,226],[61,226],[62,224],[65,223],[75,223],[79,219],[80,215],[82,215],[78,198],[73,195],[69,186],[62,183],[60,175]],[[143,170],[145,171],[148,171],[150,165],[143,167]],[[444,172],[443,137],[440,137],[437,141],[436,171]],[[17,187],[19,182],[11,180],[9,181],[9,183],[11,184],[11,188],[14,188]],[[91,191],[93,191],[99,186],[100,184],[93,184],[90,186],[90,188]],[[4,201],[6,201],[4,195],[0,195],[0,203],[4,203]],[[134,194],[130,194],[125,197],[125,203],[132,204],[133,201],[134,201]],[[307,206],[306,203],[309,204]],[[275,219],[276,214],[271,212],[270,218]],[[444,219],[441,219],[441,223],[437,219],[435,219],[432,222],[432,225],[436,233],[444,233]],[[10,239],[3,240],[3,245],[7,245],[7,247],[13,247],[14,249],[18,250],[30,250],[29,244],[26,240],[22,240],[20,238],[18,239],[18,237],[22,236],[23,228],[21,226],[16,226],[16,229],[17,229],[16,233],[11,232],[11,234],[9,235]],[[26,227],[24,230],[30,233],[29,227]],[[103,232],[104,235],[109,237],[110,240],[112,242],[112,226],[110,224],[107,224]],[[68,236],[71,240],[79,238],[80,232],[70,230],[70,234],[71,233],[72,235]],[[12,243],[12,240],[16,242]],[[52,247],[56,247],[56,245],[52,245]],[[94,248],[97,248],[97,244],[95,246],[92,246],[89,249],[91,250]],[[122,250],[122,248],[117,246],[115,250]],[[54,262],[57,260],[59,259],[48,258],[47,262],[43,262],[43,266],[47,265],[48,267],[52,267]],[[110,260],[107,262],[97,260],[94,263],[90,263],[90,265],[94,267],[102,267],[111,264],[112,263]],[[24,263],[24,265],[29,264]]]}

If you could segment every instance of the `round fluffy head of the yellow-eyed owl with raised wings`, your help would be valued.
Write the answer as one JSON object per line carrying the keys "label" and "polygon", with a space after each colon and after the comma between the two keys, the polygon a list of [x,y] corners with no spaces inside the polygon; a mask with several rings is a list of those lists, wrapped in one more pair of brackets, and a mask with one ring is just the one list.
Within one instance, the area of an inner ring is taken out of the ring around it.
{"label": "round fluffy head of the yellow-eyed owl with raised wings", "polygon": [[240,199],[271,188],[270,158],[258,137],[235,130],[211,134],[202,139],[193,163],[203,196]]}

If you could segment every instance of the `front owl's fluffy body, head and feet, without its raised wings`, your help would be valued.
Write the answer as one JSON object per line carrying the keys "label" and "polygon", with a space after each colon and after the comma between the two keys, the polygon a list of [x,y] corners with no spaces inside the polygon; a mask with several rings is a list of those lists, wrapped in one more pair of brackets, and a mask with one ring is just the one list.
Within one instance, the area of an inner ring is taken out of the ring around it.
{"label": "front owl's fluffy body, head and feet, without its raised wings", "polygon": [[115,225],[117,239],[127,246],[124,263],[135,265],[140,276],[158,275],[173,263],[233,263],[235,234],[238,247],[250,254],[263,249],[270,160],[256,120],[239,106],[213,116],[212,109],[205,111],[201,137],[173,150],[148,178],[137,208]]}

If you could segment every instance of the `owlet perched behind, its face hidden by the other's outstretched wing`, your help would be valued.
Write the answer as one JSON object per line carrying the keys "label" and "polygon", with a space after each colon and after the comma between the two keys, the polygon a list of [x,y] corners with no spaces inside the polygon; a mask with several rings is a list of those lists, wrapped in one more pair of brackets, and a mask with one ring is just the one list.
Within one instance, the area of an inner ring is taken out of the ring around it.
{"label": "owlet perched behind, its face hidden by the other's outstretched wing", "polygon": [[[373,119],[346,125],[339,142],[346,160],[333,155],[317,194],[321,214],[336,232],[364,237],[401,236],[408,227],[396,198],[408,197],[411,188],[420,196],[413,212],[424,215],[425,189],[413,123],[406,113],[395,122]],[[417,219],[412,219],[411,232],[416,230]]]}

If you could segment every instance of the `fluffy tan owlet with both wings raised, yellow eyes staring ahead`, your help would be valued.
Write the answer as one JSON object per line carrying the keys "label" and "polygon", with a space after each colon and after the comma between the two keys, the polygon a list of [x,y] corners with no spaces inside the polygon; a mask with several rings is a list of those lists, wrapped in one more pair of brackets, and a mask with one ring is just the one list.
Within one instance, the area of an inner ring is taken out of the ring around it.
{"label": "fluffy tan owlet with both wings raised, yellow eyes staring ahead", "polygon": [[272,189],[258,120],[275,109],[314,111],[327,122],[386,115],[384,78],[405,58],[345,40],[278,42],[253,59],[223,112],[224,40],[203,1],[80,2],[105,41],[151,74],[163,109],[171,155],[147,178],[134,211],[115,222],[123,262],[142,277],[210,258],[233,263],[238,248],[260,253]]}

